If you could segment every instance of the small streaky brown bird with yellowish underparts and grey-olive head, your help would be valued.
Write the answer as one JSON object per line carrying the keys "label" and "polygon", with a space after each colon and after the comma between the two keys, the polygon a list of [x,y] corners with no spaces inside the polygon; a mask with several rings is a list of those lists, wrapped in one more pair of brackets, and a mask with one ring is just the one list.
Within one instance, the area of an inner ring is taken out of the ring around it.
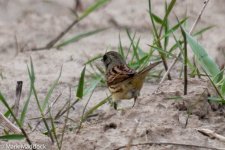
{"label": "small streaky brown bird with yellowish underparts and grey-olive head", "polygon": [[129,68],[122,56],[115,51],[105,53],[102,61],[106,68],[106,82],[115,109],[117,109],[116,101],[131,98],[134,98],[132,106],[134,107],[148,72],[162,62],[155,62],[136,72]]}

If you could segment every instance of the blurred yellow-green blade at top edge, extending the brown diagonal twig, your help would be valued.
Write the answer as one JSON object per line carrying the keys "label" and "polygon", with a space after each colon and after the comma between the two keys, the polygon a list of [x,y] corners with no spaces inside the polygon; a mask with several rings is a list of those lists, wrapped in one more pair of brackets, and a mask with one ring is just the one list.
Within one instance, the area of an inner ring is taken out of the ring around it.
{"label": "blurred yellow-green blade at top edge, extending the brown diagonal twig", "polygon": [[79,17],[79,20],[84,19],[85,17],[87,17],[90,13],[94,12],[95,10],[97,10],[98,8],[102,7],[103,5],[105,5],[106,3],[108,3],[110,0],[98,0],[97,2],[95,2],[93,5],[91,5],[90,7],[88,7],[83,14]]}

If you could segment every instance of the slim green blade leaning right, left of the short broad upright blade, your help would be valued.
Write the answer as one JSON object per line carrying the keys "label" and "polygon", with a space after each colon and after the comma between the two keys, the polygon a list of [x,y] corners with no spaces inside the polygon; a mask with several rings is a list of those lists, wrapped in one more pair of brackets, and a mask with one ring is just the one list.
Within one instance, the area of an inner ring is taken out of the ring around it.
{"label": "slim green blade leaning right, left of the short broad upright blade", "polygon": [[50,97],[51,97],[51,95],[52,95],[52,93],[53,93],[55,87],[58,85],[59,79],[60,79],[60,77],[61,77],[61,74],[62,74],[62,67],[61,67],[61,69],[60,69],[59,76],[57,77],[57,79],[56,79],[56,80],[54,81],[54,83],[52,84],[51,88],[49,89],[49,91],[48,91],[48,93],[47,93],[47,95],[46,95],[46,97],[45,97],[45,99],[44,99],[44,102],[43,102],[43,104],[42,104],[42,106],[41,106],[42,111],[45,110],[46,105],[48,104],[48,101],[49,101],[49,99],[50,99]]}

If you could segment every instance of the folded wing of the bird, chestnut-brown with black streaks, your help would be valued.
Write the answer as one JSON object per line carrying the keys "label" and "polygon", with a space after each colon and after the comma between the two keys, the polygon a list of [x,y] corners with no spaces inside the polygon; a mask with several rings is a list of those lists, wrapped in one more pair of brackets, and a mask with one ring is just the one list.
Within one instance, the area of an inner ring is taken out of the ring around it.
{"label": "folded wing of the bird, chestnut-brown with black streaks", "polygon": [[136,71],[127,65],[117,65],[106,74],[107,84],[108,86],[115,85],[133,77],[135,74]]}

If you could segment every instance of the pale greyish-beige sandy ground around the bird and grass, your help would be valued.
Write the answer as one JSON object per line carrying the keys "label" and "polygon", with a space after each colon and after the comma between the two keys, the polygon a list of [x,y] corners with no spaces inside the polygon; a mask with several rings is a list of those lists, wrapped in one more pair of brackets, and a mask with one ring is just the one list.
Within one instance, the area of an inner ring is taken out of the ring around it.
{"label": "pale greyish-beige sandy ground around the bird and grass", "polygon": [[[91,4],[91,0],[84,0],[84,8]],[[163,14],[164,6],[162,1],[153,0],[154,12]],[[202,7],[203,0],[178,0],[174,13],[178,17],[189,16],[191,26]],[[197,29],[215,25],[199,37],[199,41],[208,50],[212,57],[220,56],[219,61],[224,63],[224,57],[218,54],[224,49],[225,40],[225,1],[210,1],[202,20]],[[15,100],[16,82],[22,80],[23,93],[21,105],[24,104],[29,91],[29,78],[27,64],[30,57],[34,62],[36,73],[36,87],[40,100],[43,100],[49,86],[57,78],[60,68],[63,65],[63,72],[60,84],[54,91],[51,100],[54,100],[60,93],[62,96],[54,106],[53,113],[56,113],[69,98],[69,86],[78,82],[83,63],[88,57],[96,54],[103,54],[106,49],[117,50],[121,34],[124,46],[128,46],[128,38],[124,27],[137,32],[141,37],[140,45],[148,50],[147,44],[152,42],[151,25],[147,14],[147,0],[113,0],[102,9],[94,12],[77,26],[75,26],[65,39],[84,31],[96,28],[110,27],[108,30],[80,40],[77,43],[63,47],[62,49],[51,49],[32,52],[30,48],[39,47],[54,38],[59,32],[67,27],[75,18],[70,9],[74,8],[74,1],[29,1],[29,0],[0,0],[0,89],[10,104]],[[176,23],[176,18],[170,16],[171,24]],[[16,44],[18,43],[18,44]],[[19,48],[17,48],[17,45]],[[173,76],[173,78],[178,78]],[[143,142],[173,142],[195,144],[208,147],[224,148],[225,144],[217,139],[210,139],[197,132],[196,129],[207,128],[221,135],[225,135],[224,114],[219,110],[212,111],[206,101],[209,84],[205,80],[191,79],[188,89],[188,96],[182,96],[182,81],[174,79],[159,86],[155,93],[158,81],[146,83],[139,97],[139,103],[133,109],[123,112],[115,112],[109,105],[104,105],[99,110],[99,115],[85,123],[79,134],[66,131],[63,149],[115,149],[126,145],[131,135],[134,135],[133,143]],[[88,108],[102,100],[107,95],[106,88],[99,88],[93,94]],[[74,96],[74,92],[72,92]],[[170,97],[181,96],[180,101],[170,100]],[[78,120],[87,98],[75,106],[71,111],[70,118]],[[192,102],[199,102],[192,108]],[[133,102],[125,102],[133,103]],[[126,105],[126,104],[125,104]],[[129,104],[128,104],[129,105]],[[188,125],[184,128],[184,118],[187,116],[186,109],[192,108]],[[182,107],[183,108],[183,107]],[[205,109],[201,109],[205,108]],[[6,109],[0,106],[1,112]],[[30,120],[39,117],[34,97],[29,105],[26,123],[35,125],[36,121]],[[132,133],[136,121],[139,120],[137,131]],[[73,123],[70,122],[73,126]],[[61,125],[59,125],[60,127]],[[41,127],[40,127],[41,128]],[[1,129],[1,128],[0,128]],[[1,129],[2,130],[2,129]],[[44,143],[48,149],[56,149],[51,145],[48,138],[38,134],[30,135],[35,143]],[[1,146],[7,143],[2,142]],[[23,143],[23,141],[22,141]],[[1,149],[1,148],[0,148]],[[132,147],[132,149],[197,149],[194,147],[180,147],[171,145],[144,145]],[[202,148],[204,149],[204,148]]]}

